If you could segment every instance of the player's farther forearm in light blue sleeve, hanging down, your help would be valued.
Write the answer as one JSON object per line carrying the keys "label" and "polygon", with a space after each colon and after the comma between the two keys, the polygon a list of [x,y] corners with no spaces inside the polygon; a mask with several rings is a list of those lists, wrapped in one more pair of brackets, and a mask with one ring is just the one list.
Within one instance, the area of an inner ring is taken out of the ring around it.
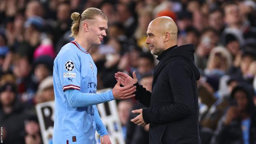
{"label": "player's farther forearm in light blue sleeve, hanging down", "polygon": [[105,128],[103,122],[101,121],[101,117],[98,113],[96,105],[94,105],[94,120],[96,123],[96,130],[101,137],[107,135],[107,129]]}

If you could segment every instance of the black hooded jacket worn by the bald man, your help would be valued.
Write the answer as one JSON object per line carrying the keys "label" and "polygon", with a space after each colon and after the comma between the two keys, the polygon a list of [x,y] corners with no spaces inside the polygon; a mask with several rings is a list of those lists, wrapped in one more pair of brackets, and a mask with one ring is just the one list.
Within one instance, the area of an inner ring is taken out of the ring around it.
{"label": "black hooded jacket worn by the bald man", "polygon": [[148,107],[142,115],[150,123],[150,144],[201,144],[198,122],[194,46],[172,46],[157,58],[152,94],[137,85],[135,98]]}

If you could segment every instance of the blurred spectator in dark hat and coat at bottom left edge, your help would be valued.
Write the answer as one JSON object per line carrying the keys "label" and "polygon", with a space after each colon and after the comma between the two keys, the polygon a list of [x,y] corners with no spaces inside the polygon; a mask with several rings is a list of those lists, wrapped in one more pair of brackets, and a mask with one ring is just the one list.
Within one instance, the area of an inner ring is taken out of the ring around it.
{"label": "blurred spectator in dark hat and coat at bottom left edge", "polygon": [[6,83],[0,87],[0,125],[4,127],[5,144],[24,144],[22,132],[26,114],[18,101],[16,86]]}

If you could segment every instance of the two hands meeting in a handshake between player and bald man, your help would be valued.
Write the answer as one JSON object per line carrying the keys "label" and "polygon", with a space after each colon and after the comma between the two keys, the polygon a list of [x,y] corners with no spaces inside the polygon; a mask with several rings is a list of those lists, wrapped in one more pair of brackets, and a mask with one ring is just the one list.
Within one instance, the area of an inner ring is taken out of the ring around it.
{"label": "two hands meeting in a handshake between player and bald man", "polygon": [[[138,82],[135,71],[133,72],[133,78],[122,72],[115,73],[115,78],[117,79],[117,84],[112,89],[115,99],[126,99],[135,96],[133,93],[136,91],[136,86],[133,84]],[[123,87],[120,85],[123,85]]]}

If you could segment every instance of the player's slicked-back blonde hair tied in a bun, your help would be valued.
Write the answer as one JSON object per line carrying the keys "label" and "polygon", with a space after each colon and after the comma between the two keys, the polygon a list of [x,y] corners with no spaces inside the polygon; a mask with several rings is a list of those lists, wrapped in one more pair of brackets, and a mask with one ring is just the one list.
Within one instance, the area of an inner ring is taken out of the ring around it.
{"label": "player's slicked-back blonde hair tied in a bun", "polygon": [[78,12],[73,12],[71,14],[71,19],[73,20],[73,23],[71,26],[70,37],[76,37],[78,35],[79,24],[82,21],[95,19],[96,16],[100,16],[107,20],[107,16],[104,14],[104,12],[101,9],[97,9],[95,7],[85,9],[85,11],[83,11],[81,15]]}

